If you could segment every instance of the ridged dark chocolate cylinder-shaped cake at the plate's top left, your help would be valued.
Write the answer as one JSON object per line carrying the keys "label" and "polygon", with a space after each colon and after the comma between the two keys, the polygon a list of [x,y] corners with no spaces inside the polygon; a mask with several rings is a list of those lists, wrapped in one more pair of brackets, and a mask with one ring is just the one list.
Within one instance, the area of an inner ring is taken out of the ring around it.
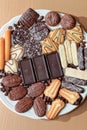
{"label": "ridged dark chocolate cylinder-shaped cake at the plate's top left", "polygon": [[33,9],[29,8],[22,14],[22,16],[19,19],[19,23],[21,23],[23,26],[29,28],[34,24],[35,21],[37,21],[39,17],[39,14],[35,12]]}

